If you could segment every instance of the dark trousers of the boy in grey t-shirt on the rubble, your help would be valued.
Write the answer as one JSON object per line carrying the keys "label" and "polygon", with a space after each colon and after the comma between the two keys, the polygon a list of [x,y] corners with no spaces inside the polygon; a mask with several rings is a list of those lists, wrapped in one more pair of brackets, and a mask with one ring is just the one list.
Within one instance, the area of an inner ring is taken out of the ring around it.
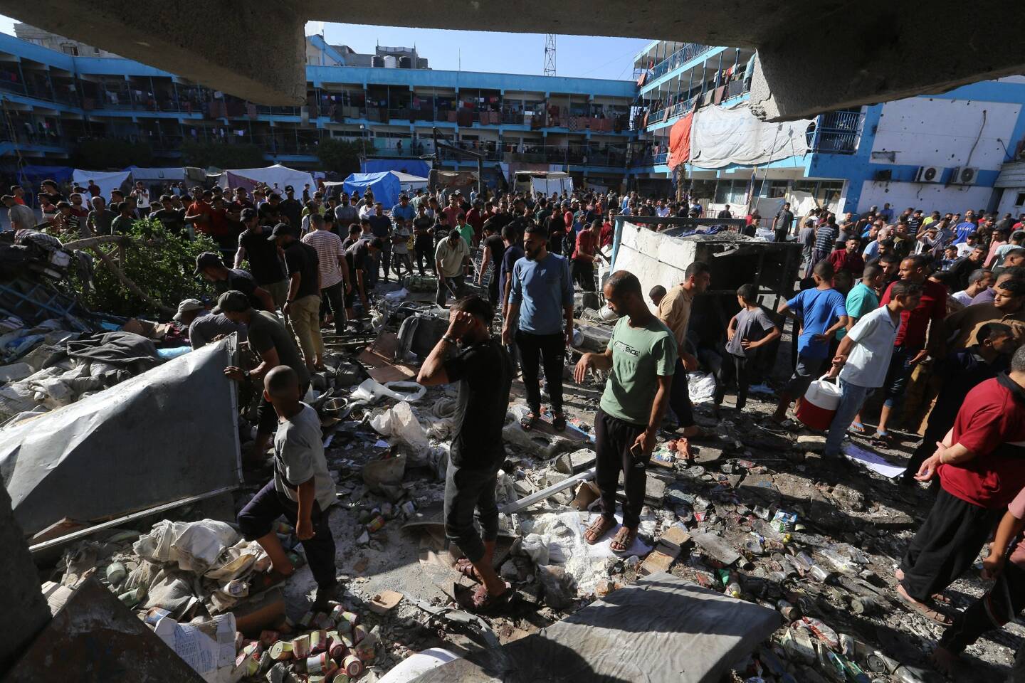
{"label": "dark trousers of the boy in grey t-shirt on the rubble", "polygon": [[[255,541],[271,532],[278,517],[284,517],[289,524],[298,523],[299,504],[278,493],[272,479],[239,512],[239,529],[246,541]],[[328,515],[320,509],[317,501],[314,501],[310,521],[314,527],[314,538],[299,543],[302,544],[317,586],[331,588],[338,582],[334,568],[334,537],[331,536]]]}

